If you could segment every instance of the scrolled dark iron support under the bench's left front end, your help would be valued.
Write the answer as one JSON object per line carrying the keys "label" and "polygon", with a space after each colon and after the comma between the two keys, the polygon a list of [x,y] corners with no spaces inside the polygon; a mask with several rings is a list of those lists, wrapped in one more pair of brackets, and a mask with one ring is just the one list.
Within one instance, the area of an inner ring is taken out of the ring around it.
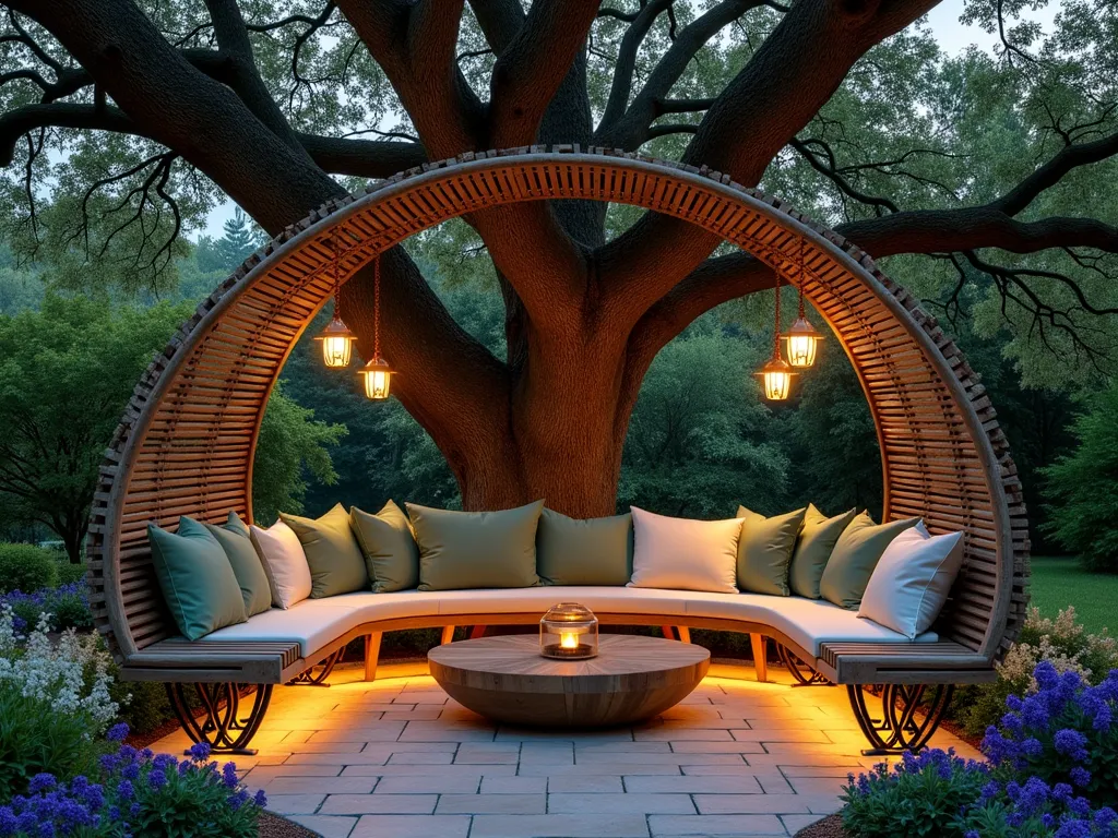
{"label": "scrolled dark iron support under the bench's left front end", "polygon": [[[212,753],[240,754],[252,756],[255,747],[249,747],[259,730],[268,702],[272,701],[272,685],[256,684],[252,706],[241,715],[241,684],[167,684],[167,697],[171,701],[179,724],[191,742],[206,742]],[[192,686],[202,715],[195,717],[186,687]],[[189,751],[187,752],[189,753]]]}

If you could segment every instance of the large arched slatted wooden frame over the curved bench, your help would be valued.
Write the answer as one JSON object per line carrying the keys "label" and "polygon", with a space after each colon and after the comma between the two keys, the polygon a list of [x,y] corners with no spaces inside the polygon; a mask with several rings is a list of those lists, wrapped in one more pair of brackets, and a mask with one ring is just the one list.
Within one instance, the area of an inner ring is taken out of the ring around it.
{"label": "large arched slatted wooden frame over the curved bench", "polygon": [[[999,659],[1027,602],[1021,486],[983,385],[935,318],[855,245],[729,175],[531,146],[427,164],[311,213],[249,257],[155,358],[106,453],[91,526],[91,600],[117,661],[176,634],[148,522],[218,522],[229,510],[250,517],[259,423],[287,355],[331,296],[334,237],[348,242],[344,278],[449,218],[563,198],[675,216],[786,274],[806,239],[806,295],[850,358],[877,426],[884,518],[921,516],[932,532],[965,533],[964,570],[936,629],[987,665]],[[845,651],[831,645],[824,658]]]}

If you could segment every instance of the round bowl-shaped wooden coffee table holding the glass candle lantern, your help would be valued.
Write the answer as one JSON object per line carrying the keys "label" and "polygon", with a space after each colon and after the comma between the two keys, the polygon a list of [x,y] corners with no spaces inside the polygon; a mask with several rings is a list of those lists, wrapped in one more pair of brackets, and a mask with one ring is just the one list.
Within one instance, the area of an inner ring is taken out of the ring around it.
{"label": "round bowl-shaped wooden coffee table holding the glass candle lantern", "polygon": [[637,722],[683,701],[710,668],[701,646],[603,635],[589,660],[540,657],[534,635],[483,637],[427,653],[452,698],[489,718],[546,727]]}

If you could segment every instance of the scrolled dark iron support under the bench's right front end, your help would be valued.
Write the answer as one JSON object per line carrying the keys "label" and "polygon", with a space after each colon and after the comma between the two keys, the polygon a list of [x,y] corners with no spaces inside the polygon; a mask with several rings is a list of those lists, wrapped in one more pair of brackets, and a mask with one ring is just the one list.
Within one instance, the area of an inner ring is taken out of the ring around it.
{"label": "scrolled dark iron support under the bench's right front end", "polygon": [[[931,698],[925,702],[928,691]],[[866,707],[865,693],[860,684],[847,684],[850,706],[859,727],[870,743],[862,751],[865,756],[893,756],[906,751],[913,753],[928,744],[928,740],[944,721],[944,714],[955,693],[954,684],[884,684],[881,686],[881,715],[874,718]],[[922,710],[922,720],[917,717]]]}

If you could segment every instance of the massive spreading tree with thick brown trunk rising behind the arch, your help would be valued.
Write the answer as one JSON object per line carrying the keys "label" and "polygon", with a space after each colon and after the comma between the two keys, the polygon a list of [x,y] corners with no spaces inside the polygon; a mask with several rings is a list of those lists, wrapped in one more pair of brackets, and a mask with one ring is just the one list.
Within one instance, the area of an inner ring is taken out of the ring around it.
{"label": "massive spreading tree with thick brown trunk rising behind the arch", "polygon": [[[1042,39],[1003,17],[1023,4],[974,0],[1003,47],[950,58],[915,25],[934,4],[10,0],[10,238],[55,253],[55,283],[154,289],[220,196],[274,235],[347,179],[424,160],[639,149],[792,199],[896,256],[949,318],[1008,330],[1030,382],[1082,382],[1115,342],[1118,9],[1065,0]],[[631,208],[534,202],[446,228],[382,258],[383,344],[467,507],[609,512],[656,353],[771,283]],[[463,270],[500,298],[500,355],[424,279],[440,248],[474,254]],[[364,346],[370,296],[369,272],[343,293]]]}

